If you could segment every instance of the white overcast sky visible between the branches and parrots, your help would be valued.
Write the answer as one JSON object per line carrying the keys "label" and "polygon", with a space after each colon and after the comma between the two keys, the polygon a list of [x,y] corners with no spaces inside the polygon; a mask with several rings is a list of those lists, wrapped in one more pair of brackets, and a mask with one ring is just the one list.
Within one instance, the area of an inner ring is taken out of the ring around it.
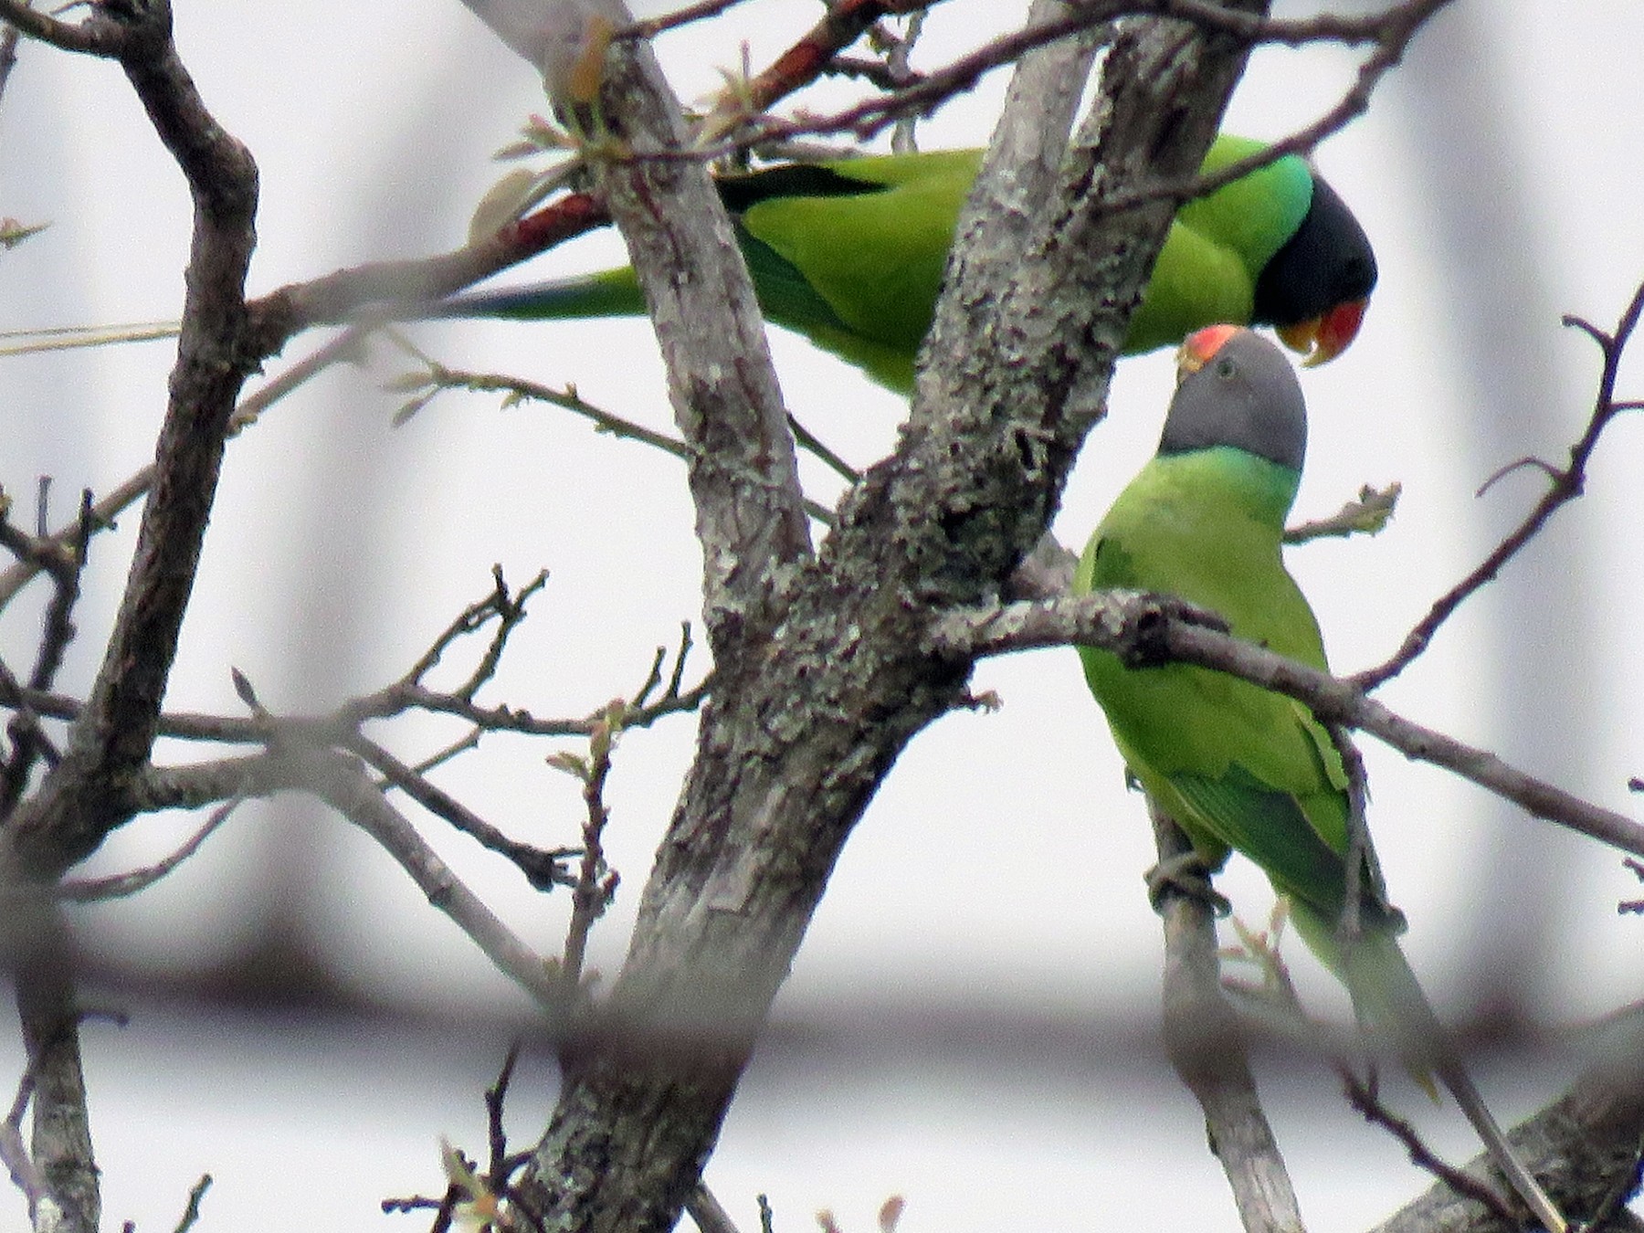
{"label": "white overcast sky visible between the branches and parrots", "polygon": [[[253,293],[460,243],[500,174],[492,153],[544,107],[531,71],[455,0],[176,0],[176,10],[207,104],[261,168]],[[922,62],[1011,28],[1024,10],[942,5]],[[676,90],[700,99],[735,66],[741,39],[764,64],[815,13],[812,0],[751,0],[666,36],[659,53]],[[1353,350],[1304,378],[1312,452],[1297,513],[1333,511],[1361,483],[1404,483],[1383,536],[1292,559],[1343,671],[1391,653],[1539,493],[1531,472],[1483,500],[1471,495],[1478,483],[1521,455],[1562,459],[1585,423],[1596,352],[1560,329],[1559,314],[1609,326],[1644,278],[1639,46],[1644,8],[1631,0],[1462,0],[1371,113],[1318,155],[1378,247],[1381,286]],[[1263,51],[1228,128],[1279,136],[1328,105],[1351,72],[1333,48]],[[921,143],[983,143],[1001,90],[991,77],[955,100],[922,125]],[[178,312],[187,197],[115,67],[23,48],[0,100],[0,215],[51,222],[0,255],[0,329]],[[620,260],[603,235],[529,275]],[[669,423],[643,322],[429,326],[416,337],[449,363],[574,381],[593,403]],[[270,372],[312,345],[293,342]],[[796,339],[773,345],[806,424],[857,464],[889,447],[904,411],[894,396]],[[33,518],[38,475],[54,477],[61,521],[81,488],[105,492],[136,470],[151,454],[168,367],[164,344],[0,360],[0,485],[16,498],[13,516]],[[238,712],[230,666],[275,710],[321,710],[376,687],[487,589],[492,562],[515,580],[552,570],[493,694],[536,713],[584,713],[631,690],[653,648],[697,616],[700,561],[674,460],[549,409],[498,411],[488,398],[450,396],[391,429],[396,399],[380,381],[399,368],[381,350],[367,372],[330,373],[233,444],[168,705]],[[1064,543],[1083,541],[1151,452],[1169,380],[1166,357],[1121,365],[1111,419],[1057,521]],[[1644,352],[1624,368],[1623,395],[1644,395]],[[1588,495],[1384,699],[1606,806],[1636,806],[1626,779],[1644,774],[1641,469],[1644,423],[1624,419]],[[807,475],[832,501],[827,475]],[[95,669],[133,524],[97,543],[64,687],[82,689]],[[20,603],[0,620],[8,663],[26,663],[36,613]],[[778,1003],[787,1021],[848,1018],[886,1000],[914,1013],[1037,1008],[1074,1023],[1154,1014],[1159,940],[1139,880],[1148,827],[1074,656],[986,664],[975,684],[996,690],[1003,710],[949,717],[903,756]],[[409,755],[441,735],[406,725],[388,740]],[[674,720],[620,746],[610,855],[623,896],[592,958],[607,972],[620,963],[690,737],[692,723]],[[543,753],[492,738],[442,783],[544,843],[569,843],[575,789],[543,768]],[[1442,1006],[1460,1013],[1491,980],[1522,977],[1537,1013],[1578,1023],[1644,993],[1639,924],[1614,914],[1637,889],[1613,855],[1374,745],[1366,756],[1371,827],[1412,922],[1407,949]],[[94,865],[153,860],[187,824],[136,822]],[[439,845],[524,935],[556,949],[562,903],[544,911],[496,861]],[[301,860],[273,878],[271,863],[293,852]],[[209,963],[256,929],[270,881],[286,911],[312,922],[337,975],[372,998],[457,1014],[523,1006],[383,853],[293,802],[247,807],[168,884],[87,911],[84,937],[156,970]],[[1223,889],[1243,916],[1264,917],[1259,876],[1230,870]],[[1307,981],[1323,996],[1327,985]],[[437,1187],[437,1134],[478,1146],[478,1090],[501,1042],[459,1044],[406,1044],[408,1062],[335,1028],[207,1032],[179,1009],[138,1016],[123,1032],[92,1026],[107,1217],[171,1226],[187,1185],[209,1171],[219,1184],[206,1213],[220,1226],[423,1228],[423,1217],[381,1217],[375,1203]],[[863,1072],[848,1047],[832,1069],[750,1078],[709,1171],[745,1228],[760,1190],[787,1231],[809,1228],[819,1207],[853,1231],[871,1228],[893,1192],[909,1198],[907,1233],[1106,1228],[1121,1217],[1138,1230],[1236,1228],[1192,1101],[1162,1077],[1156,1051],[1047,1078],[985,1051],[952,1070]],[[0,1028],[0,1090],[15,1054],[15,1031]],[[1485,1087],[1504,1116],[1519,1116],[1545,1103],[1557,1078],[1486,1074]],[[529,1080],[521,1134],[533,1118],[541,1124],[551,1095],[549,1075]],[[1340,1108],[1322,1067],[1264,1080],[1315,1233],[1368,1226],[1420,1187],[1394,1144]],[[1437,1144],[1471,1151],[1450,1106],[1399,1095]],[[1351,1169],[1340,1164],[1346,1154]],[[1157,1198],[1146,1210],[1115,1205],[1113,1195],[1138,1192]],[[13,1198],[0,1198],[0,1213],[23,1218]]]}

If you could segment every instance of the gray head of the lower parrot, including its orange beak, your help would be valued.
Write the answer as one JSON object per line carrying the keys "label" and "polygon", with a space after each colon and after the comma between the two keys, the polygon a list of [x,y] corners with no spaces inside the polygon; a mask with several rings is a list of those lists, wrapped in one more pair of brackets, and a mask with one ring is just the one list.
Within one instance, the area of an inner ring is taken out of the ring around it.
{"label": "gray head of the lower parrot, including its orange beak", "polygon": [[1307,454],[1307,403],[1284,352],[1235,326],[1208,326],[1177,352],[1161,454],[1233,446],[1292,470]]}

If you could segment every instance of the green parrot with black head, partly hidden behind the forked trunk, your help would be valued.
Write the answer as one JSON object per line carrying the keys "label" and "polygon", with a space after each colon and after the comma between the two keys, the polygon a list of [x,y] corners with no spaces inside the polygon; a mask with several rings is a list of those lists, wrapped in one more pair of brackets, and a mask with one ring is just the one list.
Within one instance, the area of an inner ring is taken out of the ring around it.
{"label": "green parrot with black head, partly hidden behind the forked trunk", "polygon": [[[1218,136],[1203,169],[1263,150]],[[766,321],[912,391],[958,209],[980,150],[786,163],[718,181]],[[1295,156],[1177,212],[1131,319],[1128,353],[1180,342],[1218,321],[1276,326],[1310,363],[1358,334],[1376,256],[1346,204]],[[441,317],[643,316],[633,270],[455,296]]]}

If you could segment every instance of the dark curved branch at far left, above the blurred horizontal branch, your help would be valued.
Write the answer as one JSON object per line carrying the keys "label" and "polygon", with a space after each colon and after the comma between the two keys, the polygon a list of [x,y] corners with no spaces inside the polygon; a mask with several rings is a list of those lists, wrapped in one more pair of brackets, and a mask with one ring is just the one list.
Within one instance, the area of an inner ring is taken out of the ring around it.
{"label": "dark curved branch at far left, above the blurred horizontal branch", "polygon": [[[16,21],[16,10],[3,12]],[[38,16],[38,15],[36,15]],[[20,23],[25,33],[35,33]],[[38,23],[36,23],[38,25]],[[67,755],[0,835],[0,878],[53,880],[130,817],[125,787],[148,760],[210,516],[243,350],[245,271],[255,243],[256,166],[212,120],[171,43],[166,3],[95,10],[77,30],[118,56],[194,199],[178,365],[125,597]],[[89,35],[90,36],[90,35]]]}

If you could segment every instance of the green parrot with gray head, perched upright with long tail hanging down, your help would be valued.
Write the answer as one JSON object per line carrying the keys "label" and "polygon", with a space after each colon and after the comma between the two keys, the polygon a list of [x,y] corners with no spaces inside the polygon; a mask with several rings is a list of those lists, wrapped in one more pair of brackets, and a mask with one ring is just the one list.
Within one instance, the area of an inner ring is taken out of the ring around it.
{"label": "green parrot with gray head, perched upright with long tail hanging down", "polygon": [[[1177,595],[1220,613],[1235,636],[1325,669],[1318,623],[1284,569],[1284,520],[1300,483],[1307,408],[1284,353],[1246,329],[1212,326],[1179,353],[1159,452],[1108,510],[1074,590]],[[1302,940],[1430,1083],[1455,1095],[1503,1174],[1550,1233],[1565,1221],[1508,1148],[1399,949],[1404,919],[1365,852],[1361,935],[1345,942],[1348,779],[1312,712],[1282,694],[1187,664],[1128,669],[1082,646],[1085,679],[1131,774],[1208,868],[1243,852],[1289,899]]]}

